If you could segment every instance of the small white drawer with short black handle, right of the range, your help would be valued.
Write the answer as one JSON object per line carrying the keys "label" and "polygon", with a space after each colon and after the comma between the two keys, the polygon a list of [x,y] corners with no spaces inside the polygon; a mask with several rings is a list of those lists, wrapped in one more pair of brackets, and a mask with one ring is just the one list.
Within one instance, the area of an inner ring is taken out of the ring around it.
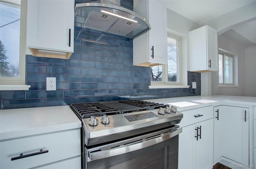
{"label": "small white drawer with short black handle, right of the range", "polygon": [[182,111],[181,113],[183,114],[183,118],[180,124],[178,125],[180,127],[184,127],[190,124],[195,124],[195,123],[213,118],[212,111],[213,111],[212,106]]}

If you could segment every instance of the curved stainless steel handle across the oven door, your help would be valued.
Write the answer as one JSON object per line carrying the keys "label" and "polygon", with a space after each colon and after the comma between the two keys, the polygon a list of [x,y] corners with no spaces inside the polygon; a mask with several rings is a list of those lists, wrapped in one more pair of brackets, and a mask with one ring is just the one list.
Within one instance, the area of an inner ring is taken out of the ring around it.
{"label": "curved stainless steel handle across the oven door", "polygon": [[170,132],[169,134],[166,134],[164,136],[160,136],[160,137],[157,137],[157,138],[154,138],[151,140],[142,141],[139,143],[127,145],[127,146],[120,147],[120,148],[108,149],[108,150],[104,150],[104,151],[94,151],[94,152],[93,151],[90,152],[88,150],[87,161],[90,162],[90,161],[94,161],[94,160],[98,160],[98,159],[108,158],[108,157],[112,157],[115,155],[121,155],[124,153],[129,153],[132,151],[143,149],[143,148],[155,145],[157,143],[166,141],[170,138],[173,138],[174,136],[177,136],[181,132],[182,132],[182,128],[178,128],[176,131]]}

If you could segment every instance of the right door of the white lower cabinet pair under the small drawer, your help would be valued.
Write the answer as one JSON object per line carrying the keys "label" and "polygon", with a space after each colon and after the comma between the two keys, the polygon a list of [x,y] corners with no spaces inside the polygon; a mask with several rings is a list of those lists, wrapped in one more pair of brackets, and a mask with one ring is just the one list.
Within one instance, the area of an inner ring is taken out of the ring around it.
{"label": "right door of the white lower cabinet pair under the small drawer", "polygon": [[198,127],[199,138],[196,140],[196,169],[211,169],[213,155],[213,119],[200,122]]}

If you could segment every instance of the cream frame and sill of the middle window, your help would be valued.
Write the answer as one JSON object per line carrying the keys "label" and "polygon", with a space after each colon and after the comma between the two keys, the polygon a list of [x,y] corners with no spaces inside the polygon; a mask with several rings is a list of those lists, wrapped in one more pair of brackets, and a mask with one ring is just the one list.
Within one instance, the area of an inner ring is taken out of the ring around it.
{"label": "cream frame and sill of the middle window", "polygon": [[[182,85],[182,37],[178,36],[178,35],[174,35],[170,32],[167,32],[167,37],[170,37],[172,39],[176,39],[179,41],[179,63],[178,63],[178,70],[177,71],[177,76],[179,79],[179,82],[169,82],[168,81],[168,66],[167,64],[162,65],[162,77],[163,77],[163,81],[162,82],[158,82],[158,81],[151,81],[151,86],[173,86],[175,88],[178,88],[179,86],[181,87]],[[167,50],[167,46],[166,46],[166,50]],[[184,86],[182,86],[184,87]]]}

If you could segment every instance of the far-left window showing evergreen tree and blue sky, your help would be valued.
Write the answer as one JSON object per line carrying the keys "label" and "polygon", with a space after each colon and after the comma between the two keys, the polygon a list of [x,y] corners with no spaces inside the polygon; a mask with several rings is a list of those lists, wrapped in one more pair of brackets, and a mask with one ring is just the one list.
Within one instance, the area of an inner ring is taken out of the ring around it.
{"label": "far-left window showing evergreen tree and blue sky", "polygon": [[25,84],[26,3],[0,0],[0,90],[27,90],[18,86]]}

